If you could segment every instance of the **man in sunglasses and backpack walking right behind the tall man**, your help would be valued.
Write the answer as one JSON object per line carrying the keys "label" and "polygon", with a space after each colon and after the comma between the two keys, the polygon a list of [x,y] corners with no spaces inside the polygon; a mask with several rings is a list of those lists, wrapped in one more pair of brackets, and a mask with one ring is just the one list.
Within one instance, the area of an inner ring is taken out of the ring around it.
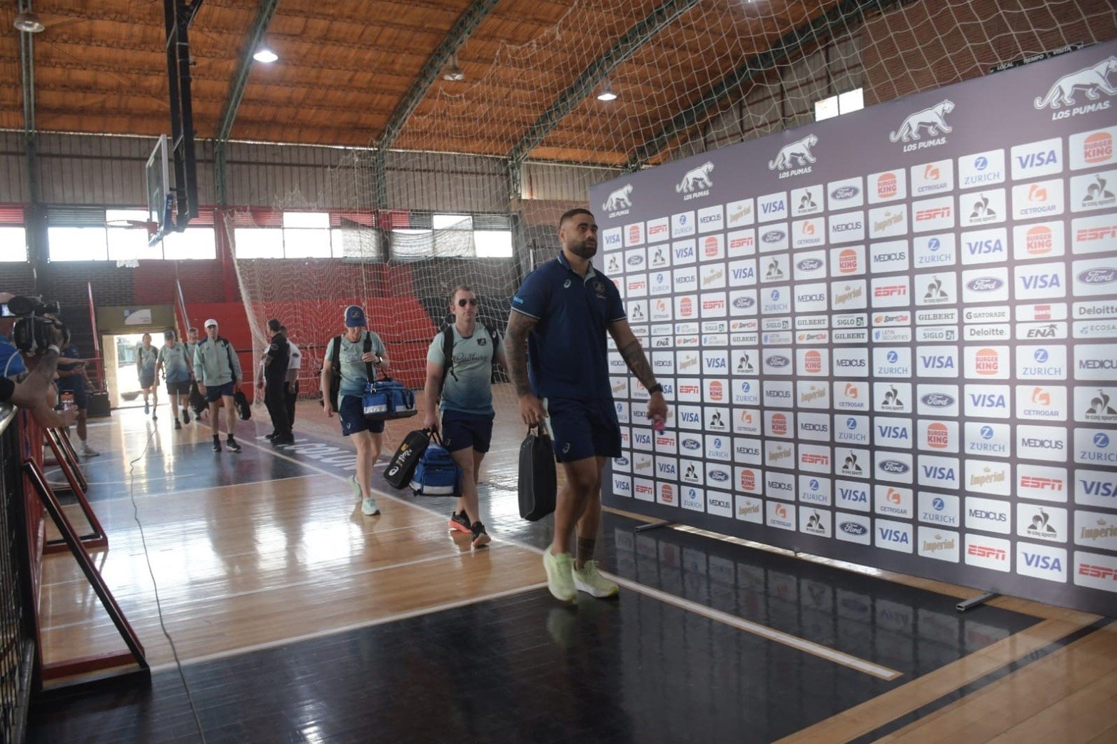
{"label": "man in sunglasses and backpack walking right behind the tall man", "polygon": [[472,546],[480,547],[489,542],[480,521],[477,479],[493,439],[493,363],[507,368],[507,361],[499,334],[477,322],[477,296],[467,285],[450,293],[450,315],[454,324],[427,350],[423,426],[439,430],[435,402],[441,395],[442,443],[461,468],[461,496],[450,528],[471,534]]}

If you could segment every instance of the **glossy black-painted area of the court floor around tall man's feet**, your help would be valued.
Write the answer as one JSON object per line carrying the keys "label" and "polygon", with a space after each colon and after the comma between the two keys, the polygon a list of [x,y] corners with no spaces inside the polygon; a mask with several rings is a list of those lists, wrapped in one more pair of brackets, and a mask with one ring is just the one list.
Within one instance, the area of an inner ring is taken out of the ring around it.
{"label": "glossy black-painted area of the court floor around tall man's feet", "polygon": [[[288,457],[325,467],[326,445],[299,439],[312,449]],[[252,447],[233,457],[207,446],[174,447],[174,462],[150,451],[149,471],[173,478],[147,493],[185,487],[180,471],[191,487],[313,473]],[[87,473],[120,480],[126,468],[105,458]],[[447,516],[452,506],[403,497]],[[550,519],[519,519],[512,490],[483,485],[483,502],[494,534],[550,542]],[[960,616],[953,598],[699,535],[638,534],[637,524],[605,515],[599,552],[615,573],[904,676],[881,681],[634,591],[564,608],[537,590],[188,666],[207,741],[767,742],[1037,621],[991,607]],[[198,734],[172,670],[38,700],[28,742],[71,741]]]}

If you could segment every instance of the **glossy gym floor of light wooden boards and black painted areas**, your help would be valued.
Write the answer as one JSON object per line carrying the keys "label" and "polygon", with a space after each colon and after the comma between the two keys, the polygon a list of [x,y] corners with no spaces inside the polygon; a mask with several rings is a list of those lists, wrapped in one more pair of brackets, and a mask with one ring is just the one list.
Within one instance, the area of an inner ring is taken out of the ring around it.
{"label": "glossy gym floor of light wooden boards and black painted areas", "polygon": [[[480,551],[448,532],[449,499],[391,492],[362,516],[316,403],[294,447],[255,408],[240,455],[174,431],[165,404],[97,422],[95,560],[153,671],[48,690],[28,741],[1117,742],[1117,623],[1098,616],[1008,598],[958,614],[976,591],[619,513],[599,553],[620,599],[560,605],[550,521],[517,514],[507,398]],[[42,584],[47,660],[124,649],[73,559],[48,556]]]}

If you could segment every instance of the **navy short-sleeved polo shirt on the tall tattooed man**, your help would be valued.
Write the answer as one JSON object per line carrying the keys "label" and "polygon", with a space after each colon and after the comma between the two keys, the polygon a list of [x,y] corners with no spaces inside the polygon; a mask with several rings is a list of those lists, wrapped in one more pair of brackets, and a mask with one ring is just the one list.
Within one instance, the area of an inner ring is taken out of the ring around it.
{"label": "navy short-sleeved polo shirt on the tall tattooed man", "polygon": [[583,278],[560,252],[524,279],[512,309],[538,319],[527,337],[527,375],[536,395],[612,398],[605,333],[627,316],[609,277],[591,264]]}

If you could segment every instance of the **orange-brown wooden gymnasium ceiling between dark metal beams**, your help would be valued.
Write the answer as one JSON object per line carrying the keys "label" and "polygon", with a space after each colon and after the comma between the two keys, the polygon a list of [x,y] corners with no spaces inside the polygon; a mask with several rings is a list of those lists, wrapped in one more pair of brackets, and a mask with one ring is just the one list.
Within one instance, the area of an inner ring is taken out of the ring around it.
{"label": "orange-brown wooden gymnasium ceiling between dark metal beams", "polygon": [[[509,155],[518,146],[521,159],[618,163],[665,113],[837,4],[204,0],[190,27],[194,124],[201,139],[219,134],[262,6],[274,7],[264,39],[279,61],[252,64],[232,140],[366,146],[386,127],[398,149]],[[17,0],[0,9],[0,127],[21,130],[17,9]],[[170,132],[162,0],[35,0],[32,9],[46,26],[34,36],[39,131]],[[455,30],[469,17],[459,46]],[[439,65],[423,85],[424,67],[455,49],[465,80],[442,79]],[[608,104],[609,126],[595,97],[603,67],[623,89]]]}

